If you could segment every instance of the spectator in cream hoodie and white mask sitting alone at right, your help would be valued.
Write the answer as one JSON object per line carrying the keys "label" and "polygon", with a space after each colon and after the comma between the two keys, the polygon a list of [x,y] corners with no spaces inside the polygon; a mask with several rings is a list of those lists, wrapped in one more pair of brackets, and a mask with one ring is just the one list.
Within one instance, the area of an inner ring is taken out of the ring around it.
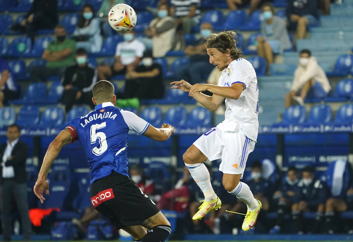
{"label": "spectator in cream hoodie and white mask sitting alone at right", "polygon": [[304,100],[310,89],[315,96],[323,93],[327,95],[331,90],[324,70],[318,65],[316,58],[311,56],[310,50],[301,50],[299,56],[299,65],[294,71],[292,88],[286,95],[286,108],[291,106],[292,99],[300,105],[304,105]]}

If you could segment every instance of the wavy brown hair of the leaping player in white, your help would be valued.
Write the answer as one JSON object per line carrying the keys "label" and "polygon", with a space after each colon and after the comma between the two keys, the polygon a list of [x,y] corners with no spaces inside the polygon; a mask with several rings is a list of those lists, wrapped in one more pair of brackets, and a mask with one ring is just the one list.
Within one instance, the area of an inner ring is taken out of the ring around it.
{"label": "wavy brown hair of the leaping player in white", "polygon": [[206,37],[206,46],[208,48],[216,48],[223,54],[227,52],[227,49],[231,50],[231,57],[236,60],[243,56],[241,48],[237,46],[238,36],[234,31],[224,31],[218,34],[210,34]]}

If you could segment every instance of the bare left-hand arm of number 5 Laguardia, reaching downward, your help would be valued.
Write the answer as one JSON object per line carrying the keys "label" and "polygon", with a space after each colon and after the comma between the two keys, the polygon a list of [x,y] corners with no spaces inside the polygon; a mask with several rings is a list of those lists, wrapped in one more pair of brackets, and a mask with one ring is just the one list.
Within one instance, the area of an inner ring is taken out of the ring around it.
{"label": "bare left-hand arm of number 5 Laguardia, reaching downward", "polygon": [[44,191],[46,191],[46,195],[49,196],[49,184],[47,181],[47,176],[50,166],[52,166],[54,160],[56,157],[58,157],[61,148],[67,144],[70,144],[70,142],[71,134],[66,130],[62,130],[48,147],[47,153],[43,159],[41,170],[38,174],[38,179],[33,188],[34,194],[41,200],[41,203],[43,203],[43,200],[45,200],[43,197]]}

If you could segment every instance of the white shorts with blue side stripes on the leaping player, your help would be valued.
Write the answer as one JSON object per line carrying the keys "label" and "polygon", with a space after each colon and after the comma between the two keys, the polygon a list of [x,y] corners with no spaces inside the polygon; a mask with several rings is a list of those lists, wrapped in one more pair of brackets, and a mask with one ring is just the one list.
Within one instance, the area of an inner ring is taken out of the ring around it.
{"label": "white shorts with blue side stripes on the leaping player", "polygon": [[226,174],[241,174],[241,179],[247,157],[254,150],[255,143],[246,137],[243,129],[223,132],[215,127],[204,133],[193,145],[210,161],[222,158],[219,170]]}

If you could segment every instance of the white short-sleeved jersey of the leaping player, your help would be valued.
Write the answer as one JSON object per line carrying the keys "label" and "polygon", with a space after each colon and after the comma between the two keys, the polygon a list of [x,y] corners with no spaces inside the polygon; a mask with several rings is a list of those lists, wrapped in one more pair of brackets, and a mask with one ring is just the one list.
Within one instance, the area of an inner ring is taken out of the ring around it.
{"label": "white short-sleeved jersey of the leaping player", "polygon": [[247,138],[256,142],[259,122],[259,90],[254,68],[246,59],[233,60],[218,81],[220,87],[244,85],[244,91],[235,100],[226,98],[225,120],[217,125],[224,132],[243,129]]}

